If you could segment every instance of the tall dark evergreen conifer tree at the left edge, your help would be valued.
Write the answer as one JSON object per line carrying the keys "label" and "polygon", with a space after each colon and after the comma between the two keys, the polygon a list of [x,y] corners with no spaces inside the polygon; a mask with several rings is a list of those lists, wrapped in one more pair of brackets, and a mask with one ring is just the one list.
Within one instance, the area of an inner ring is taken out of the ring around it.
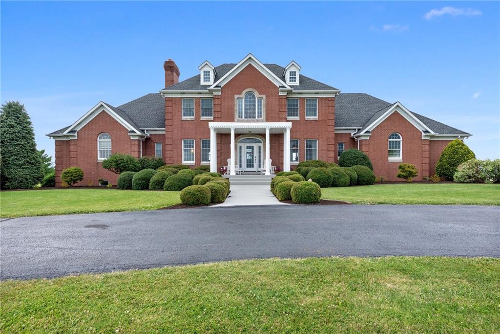
{"label": "tall dark evergreen conifer tree at the left edge", "polygon": [[1,188],[32,188],[43,178],[31,119],[17,101],[0,108],[0,155]]}

